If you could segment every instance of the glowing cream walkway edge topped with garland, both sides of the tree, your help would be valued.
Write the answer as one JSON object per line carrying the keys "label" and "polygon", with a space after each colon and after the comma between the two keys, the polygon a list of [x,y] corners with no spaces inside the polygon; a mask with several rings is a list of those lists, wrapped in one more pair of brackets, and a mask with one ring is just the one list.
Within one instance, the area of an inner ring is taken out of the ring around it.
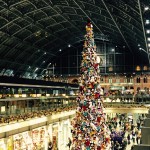
{"label": "glowing cream walkway edge topped with garland, both sides of the tree", "polygon": [[[110,103],[105,104],[106,113],[141,113],[147,114],[149,105],[145,104],[123,104]],[[76,105],[58,106],[46,110],[34,110],[22,114],[1,115],[0,138],[25,132],[40,126],[55,123],[64,119],[70,119],[75,116]],[[24,108],[23,108],[24,110]]]}

